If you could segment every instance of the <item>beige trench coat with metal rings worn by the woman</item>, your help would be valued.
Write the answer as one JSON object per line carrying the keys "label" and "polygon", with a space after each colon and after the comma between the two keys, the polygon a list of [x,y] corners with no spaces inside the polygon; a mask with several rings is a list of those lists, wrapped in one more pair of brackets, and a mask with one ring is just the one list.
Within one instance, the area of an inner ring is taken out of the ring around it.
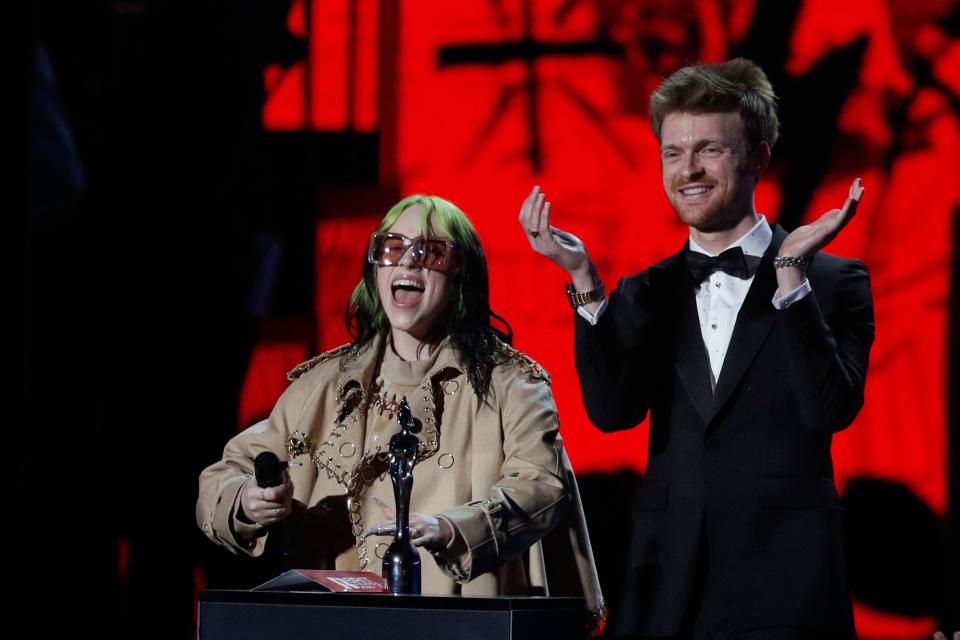
{"label": "beige trench coat with metal rings worn by the woman", "polygon": [[[368,392],[383,344],[375,340],[359,350],[345,345],[298,366],[269,419],[227,443],[223,459],[200,476],[197,523],[211,540],[234,552],[263,553],[265,531],[236,514],[253,458],[272,451],[290,463],[294,513],[288,528],[296,565],[379,573],[380,560],[371,552],[377,539],[362,541],[359,534],[376,524],[362,519],[370,506],[364,499],[372,483],[384,481],[386,468],[383,454],[364,450]],[[498,362],[487,402],[477,397],[450,347],[442,349],[420,385],[424,429],[411,511],[445,518],[454,530],[447,549],[420,550],[423,592],[579,591],[591,612],[601,615],[602,596],[576,479],[558,435],[549,376],[505,344]],[[568,563],[556,572],[545,566],[541,545],[552,530],[548,557]],[[553,573],[576,575],[579,584],[567,580],[555,586]]]}

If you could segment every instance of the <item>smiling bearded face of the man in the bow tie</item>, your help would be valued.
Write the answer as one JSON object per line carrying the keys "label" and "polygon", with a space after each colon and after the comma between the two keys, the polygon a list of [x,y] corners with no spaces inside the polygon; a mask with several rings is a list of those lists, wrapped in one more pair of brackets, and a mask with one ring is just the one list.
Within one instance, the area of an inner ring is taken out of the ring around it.
{"label": "smiling bearded face of the man in the bow tie", "polygon": [[675,111],[663,119],[663,188],[684,224],[698,231],[726,231],[752,215],[765,166],[751,159],[738,113]]}

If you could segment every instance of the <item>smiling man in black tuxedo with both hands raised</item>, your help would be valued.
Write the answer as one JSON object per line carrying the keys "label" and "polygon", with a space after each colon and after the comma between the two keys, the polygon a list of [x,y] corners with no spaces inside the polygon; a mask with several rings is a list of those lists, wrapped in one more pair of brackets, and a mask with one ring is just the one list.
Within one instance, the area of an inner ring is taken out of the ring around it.
{"label": "smiling man in black tuxedo with both hands raised", "polygon": [[758,215],[775,99],[743,59],[654,92],[663,186],[690,239],[609,298],[539,188],[520,211],[570,275],[590,419],[615,431],[650,414],[624,614],[645,638],[855,637],[830,442],[863,404],[873,307],[864,265],[821,249],[863,187],[789,234]]}

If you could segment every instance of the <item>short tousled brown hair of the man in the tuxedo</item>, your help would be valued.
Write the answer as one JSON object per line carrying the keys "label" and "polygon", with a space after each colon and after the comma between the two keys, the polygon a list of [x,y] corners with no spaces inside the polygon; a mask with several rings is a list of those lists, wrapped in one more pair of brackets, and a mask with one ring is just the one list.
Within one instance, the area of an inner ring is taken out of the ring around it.
{"label": "short tousled brown hair of the man in the tuxedo", "polygon": [[697,64],[670,74],[653,92],[650,126],[659,140],[667,114],[736,111],[750,145],[766,142],[772,149],[780,134],[776,101],[767,74],[750,60]]}

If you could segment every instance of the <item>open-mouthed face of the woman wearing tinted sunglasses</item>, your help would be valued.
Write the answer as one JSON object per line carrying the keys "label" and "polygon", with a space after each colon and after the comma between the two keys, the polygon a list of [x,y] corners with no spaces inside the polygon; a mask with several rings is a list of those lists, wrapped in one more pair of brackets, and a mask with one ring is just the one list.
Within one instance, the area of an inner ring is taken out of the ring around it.
{"label": "open-mouthed face of the woman wearing tinted sunglasses", "polygon": [[[404,211],[388,231],[419,237],[420,207]],[[413,249],[407,249],[396,266],[376,268],[377,292],[394,335],[407,333],[423,341],[446,320],[452,276],[414,266],[412,254]]]}

